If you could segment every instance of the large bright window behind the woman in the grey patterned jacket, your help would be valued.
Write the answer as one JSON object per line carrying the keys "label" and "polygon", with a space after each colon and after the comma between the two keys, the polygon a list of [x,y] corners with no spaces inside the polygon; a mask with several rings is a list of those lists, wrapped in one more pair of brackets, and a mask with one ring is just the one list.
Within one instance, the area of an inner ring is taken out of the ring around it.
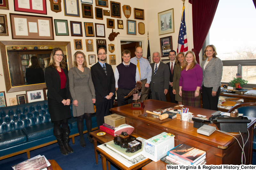
{"label": "large bright window behind the woman in the grey patterned jacket", "polygon": [[216,47],[223,62],[221,82],[227,83],[240,73],[248,81],[246,87],[255,87],[255,20],[252,0],[220,0],[205,43]]}

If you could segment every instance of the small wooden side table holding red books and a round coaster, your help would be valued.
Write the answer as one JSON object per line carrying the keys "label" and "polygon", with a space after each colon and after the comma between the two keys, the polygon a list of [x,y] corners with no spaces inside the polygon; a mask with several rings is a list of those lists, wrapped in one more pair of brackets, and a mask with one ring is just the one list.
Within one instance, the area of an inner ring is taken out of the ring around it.
{"label": "small wooden side table holding red books and a round coaster", "polygon": [[94,146],[94,152],[95,152],[95,159],[96,159],[96,164],[98,165],[98,153],[96,151],[96,147],[97,147],[97,142],[103,144],[103,143],[108,143],[110,141],[113,141],[114,140],[114,136],[113,135],[110,135],[108,133],[106,133],[105,135],[103,136],[98,136],[97,133],[100,133],[100,132],[104,132],[103,130],[94,130],[92,132],[90,132],[90,135],[92,135],[92,139],[93,139],[93,146]]}

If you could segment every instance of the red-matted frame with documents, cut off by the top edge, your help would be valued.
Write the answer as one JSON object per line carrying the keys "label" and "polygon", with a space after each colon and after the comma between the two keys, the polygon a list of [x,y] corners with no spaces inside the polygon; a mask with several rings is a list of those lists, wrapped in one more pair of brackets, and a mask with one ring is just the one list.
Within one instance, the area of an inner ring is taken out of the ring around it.
{"label": "red-matted frame with documents, cut off by the top edge", "polygon": [[[1,2],[2,0],[0,0]],[[46,0],[34,1],[34,0],[14,0],[14,11],[29,12],[47,15]]]}

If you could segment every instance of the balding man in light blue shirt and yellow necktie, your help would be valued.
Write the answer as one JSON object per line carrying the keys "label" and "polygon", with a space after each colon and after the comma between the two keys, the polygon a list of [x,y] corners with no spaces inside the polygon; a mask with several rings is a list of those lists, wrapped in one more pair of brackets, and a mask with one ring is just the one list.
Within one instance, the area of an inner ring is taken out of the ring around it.
{"label": "balding man in light blue shirt and yellow necktie", "polygon": [[142,57],[143,51],[141,47],[137,47],[135,50],[136,57],[131,58],[130,62],[135,64],[138,67],[140,73],[140,81],[142,82],[141,86],[141,100],[148,99],[149,93],[149,84],[151,81],[152,68],[147,59]]}

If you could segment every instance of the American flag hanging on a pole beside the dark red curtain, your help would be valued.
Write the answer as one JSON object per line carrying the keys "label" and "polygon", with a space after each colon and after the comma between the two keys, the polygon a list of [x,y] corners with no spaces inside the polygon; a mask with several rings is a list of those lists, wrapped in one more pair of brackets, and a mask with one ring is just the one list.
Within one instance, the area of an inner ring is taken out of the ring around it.
{"label": "American flag hanging on a pole beside the dark red curtain", "polygon": [[181,23],[180,23],[180,33],[178,37],[177,53],[179,52],[186,53],[188,51],[188,39],[187,39],[186,23],[185,23],[185,6],[183,6],[182,9],[183,9],[183,12],[182,12]]}

